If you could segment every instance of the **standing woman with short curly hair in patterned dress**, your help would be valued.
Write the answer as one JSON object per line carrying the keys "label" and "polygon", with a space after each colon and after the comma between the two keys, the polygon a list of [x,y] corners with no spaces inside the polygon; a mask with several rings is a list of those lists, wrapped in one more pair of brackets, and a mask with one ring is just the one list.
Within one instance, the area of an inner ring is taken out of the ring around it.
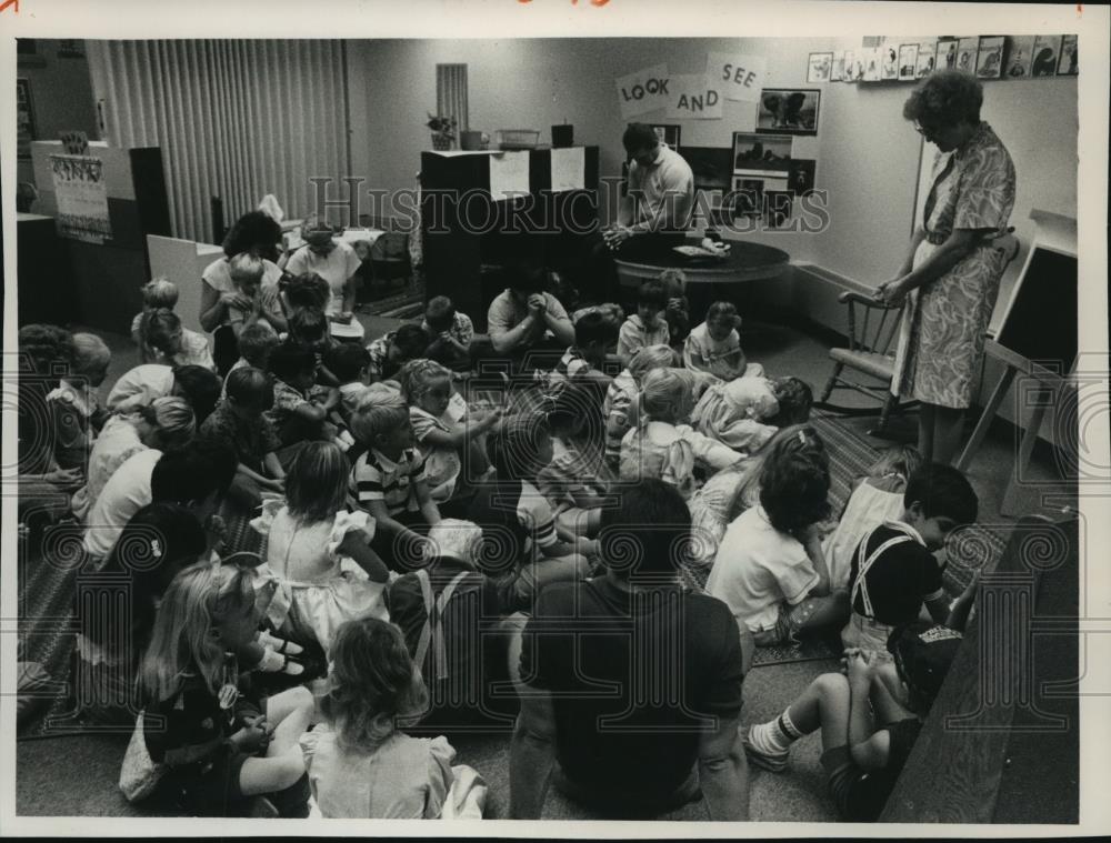
{"label": "standing woman with short curly hair in patterned dress", "polygon": [[1014,205],[1014,164],[980,120],[983,89],[968,73],[931,73],[903,117],[938,148],[923,225],[898,275],[880,284],[887,304],[904,299],[891,391],[921,403],[919,451],[949,463],[960,444],[995,307]]}

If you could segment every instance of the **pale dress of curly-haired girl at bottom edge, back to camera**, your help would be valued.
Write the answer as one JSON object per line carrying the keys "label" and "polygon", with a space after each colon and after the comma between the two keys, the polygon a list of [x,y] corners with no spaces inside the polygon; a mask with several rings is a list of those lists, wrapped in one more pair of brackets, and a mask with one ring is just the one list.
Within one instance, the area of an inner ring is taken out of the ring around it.
{"label": "pale dress of curly-haired girl at bottom edge, back to camera", "polygon": [[309,787],[324,817],[478,820],[487,786],[466,764],[452,765],[448,739],[393,732],[371,752],[346,750],[327,723],[300,739]]}

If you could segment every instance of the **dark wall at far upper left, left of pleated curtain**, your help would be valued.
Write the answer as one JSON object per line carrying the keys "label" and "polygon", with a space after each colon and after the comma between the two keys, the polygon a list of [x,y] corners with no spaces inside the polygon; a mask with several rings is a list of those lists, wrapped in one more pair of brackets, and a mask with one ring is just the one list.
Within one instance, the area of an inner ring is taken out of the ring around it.
{"label": "dark wall at far upper left, left of pleated curtain", "polygon": [[[84,41],[80,42],[84,44]],[[63,131],[83,131],[90,140],[100,138],[92,99],[89,60],[59,59],[58,41],[37,39],[36,66],[19,63],[16,76],[31,83],[36,140],[57,140]],[[18,181],[34,182],[31,160],[16,167]]]}

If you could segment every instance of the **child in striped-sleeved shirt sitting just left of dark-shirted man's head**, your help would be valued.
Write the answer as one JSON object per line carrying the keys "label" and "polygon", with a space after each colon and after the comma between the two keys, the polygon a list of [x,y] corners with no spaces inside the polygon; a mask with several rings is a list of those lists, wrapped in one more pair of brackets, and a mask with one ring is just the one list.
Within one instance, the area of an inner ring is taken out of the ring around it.
{"label": "child in striped-sleeved shirt sitting just left of dark-shirted man's head", "polygon": [[487,438],[497,481],[483,483],[471,500],[468,520],[482,528],[497,553],[487,555],[483,573],[493,579],[510,611],[528,610],[551,582],[582,580],[598,543],[585,538],[561,541],[548,500],[536,478],[552,459],[551,433],[539,412],[502,419]]}

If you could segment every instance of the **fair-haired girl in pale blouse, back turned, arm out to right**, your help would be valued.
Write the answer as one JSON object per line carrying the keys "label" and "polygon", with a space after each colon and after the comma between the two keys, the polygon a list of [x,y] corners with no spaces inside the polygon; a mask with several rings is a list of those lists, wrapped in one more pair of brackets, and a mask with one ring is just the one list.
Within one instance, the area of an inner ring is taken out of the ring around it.
{"label": "fair-haired girl in pale blouse, back turned, arm out to right", "polygon": [[712,472],[742,459],[691,428],[692,409],[690,384],[678,372],[655,369],[644,375],[637,426],[621,440],[622,481],[658,478],[689,501],[695,488],[695,464]]}

